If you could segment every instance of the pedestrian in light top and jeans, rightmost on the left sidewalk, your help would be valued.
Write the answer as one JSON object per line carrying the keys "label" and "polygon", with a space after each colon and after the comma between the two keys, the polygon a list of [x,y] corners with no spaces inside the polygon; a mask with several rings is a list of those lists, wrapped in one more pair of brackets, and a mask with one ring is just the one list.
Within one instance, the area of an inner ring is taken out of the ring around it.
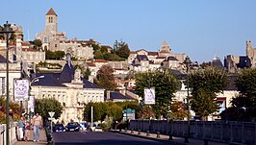
{"label": "pedestrian in light top and jeans, rightmost on the left sidewalk", "polygon": [[38,142],[40,136],[40,129],[42,128],[42,119],[38,112],[32,119],[32,126],[34,130],[34,142]]}

